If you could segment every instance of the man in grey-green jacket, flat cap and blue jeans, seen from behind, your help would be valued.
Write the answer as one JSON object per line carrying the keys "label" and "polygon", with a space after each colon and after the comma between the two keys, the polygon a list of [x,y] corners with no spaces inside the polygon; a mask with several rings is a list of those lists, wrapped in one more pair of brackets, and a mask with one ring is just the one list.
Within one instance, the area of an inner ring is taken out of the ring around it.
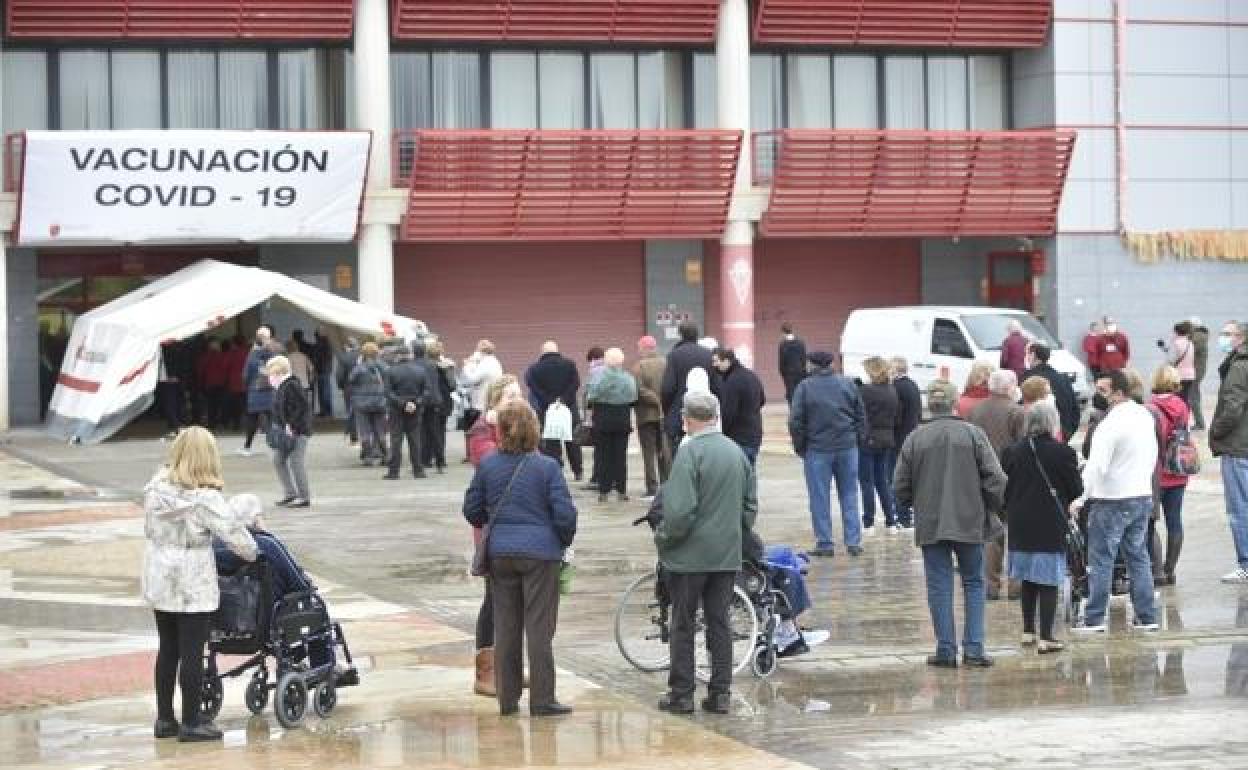
{"label": "man in grey-green jacket, flat cap and blue jeans, seen from behind", "polygon": [[897,502],[915,509],[915,542],[924,549],[927,609],[936,630],[936,654],[929,665],[957,668],[953,619],[953,555],[962,575],[966,618],[962,663],[987,668],[983,654],[983,544],[1000,522],[1006,474],[980,428],[953,417],[957,388],[936,379],[927,386],[932,422],[910,434],[901,447],[894,479]]}

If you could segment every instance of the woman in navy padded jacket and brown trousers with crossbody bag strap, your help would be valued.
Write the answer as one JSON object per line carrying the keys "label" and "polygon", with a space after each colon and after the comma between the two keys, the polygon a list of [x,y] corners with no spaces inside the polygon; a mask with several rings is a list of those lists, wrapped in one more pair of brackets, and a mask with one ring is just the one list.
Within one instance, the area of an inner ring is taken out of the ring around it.
{"label": "woman in navy padded jacket and brown trousers with crossbody bag strap", "polygon": [[559,716],[572,709],[555,699],[554,633],[559,572],[577,535],[577,507],[559,464],[535,452],[538,418],[524,403],[498,411],[498,451],[487,456],[464,493],[473,527],[489,524],[490,593],[494,599],[494,684],[498,710],[519,710],[523,650],[529,650],[529,714]]}

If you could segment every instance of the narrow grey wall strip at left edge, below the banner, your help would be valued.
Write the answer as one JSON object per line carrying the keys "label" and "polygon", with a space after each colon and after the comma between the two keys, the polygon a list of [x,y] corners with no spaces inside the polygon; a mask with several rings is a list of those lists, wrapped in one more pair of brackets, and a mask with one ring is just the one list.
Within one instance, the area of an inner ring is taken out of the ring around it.
{"label": "narrow grey wall strip at left edge, below the banner", "polygon": [[9,422],[32,426],[40,422],[39,412],[39,292],[35,252],[9,248],[5,256],[5,278],[9,291]]}

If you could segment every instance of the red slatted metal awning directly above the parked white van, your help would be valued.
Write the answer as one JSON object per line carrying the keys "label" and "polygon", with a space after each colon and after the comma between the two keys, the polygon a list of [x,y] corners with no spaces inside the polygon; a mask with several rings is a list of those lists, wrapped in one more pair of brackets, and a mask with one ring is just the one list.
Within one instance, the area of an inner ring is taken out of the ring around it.
{"label": "red slatted metal awning directly above the parked white van", "polygon": [[768,236],[1051,235],[1075,150],[1073,131],[787,130],[765,139],[775,152]]}

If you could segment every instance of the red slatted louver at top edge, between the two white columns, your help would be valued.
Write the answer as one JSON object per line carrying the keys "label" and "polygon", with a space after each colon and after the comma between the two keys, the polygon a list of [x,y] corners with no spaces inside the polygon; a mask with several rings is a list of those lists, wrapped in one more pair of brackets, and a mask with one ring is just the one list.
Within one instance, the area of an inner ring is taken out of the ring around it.
{"label": "red slatted louver at top edge, between the two white columns", "polygon": [[394,0],[396,40],[710,42],[719,0]]}

